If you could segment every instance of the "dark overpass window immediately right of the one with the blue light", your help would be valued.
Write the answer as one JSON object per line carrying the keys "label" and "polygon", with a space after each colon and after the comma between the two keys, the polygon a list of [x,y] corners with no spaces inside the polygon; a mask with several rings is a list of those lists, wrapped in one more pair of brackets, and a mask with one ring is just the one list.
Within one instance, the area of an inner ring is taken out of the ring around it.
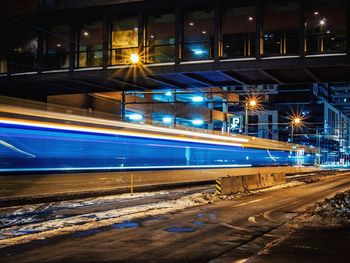
{"label": "dark overpass window immediately right of the one with the blue light", "polygon": [[224,6],[222,18],[222,58],[254,56],[255,1],[233,7]]}

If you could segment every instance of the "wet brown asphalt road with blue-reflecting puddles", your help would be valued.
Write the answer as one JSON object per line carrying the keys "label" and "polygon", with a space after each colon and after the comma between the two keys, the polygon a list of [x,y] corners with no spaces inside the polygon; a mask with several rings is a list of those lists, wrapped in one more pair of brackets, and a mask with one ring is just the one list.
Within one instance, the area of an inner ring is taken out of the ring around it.
{"label": "wet brown asphalt road with blue-reflecting puddles", "polygon": [[[315,201],[350,189],[350,176],[144,218],[0,250],[1,262],[233,262],[288,233]],[[281,262],[283,258],[281,258]]]}

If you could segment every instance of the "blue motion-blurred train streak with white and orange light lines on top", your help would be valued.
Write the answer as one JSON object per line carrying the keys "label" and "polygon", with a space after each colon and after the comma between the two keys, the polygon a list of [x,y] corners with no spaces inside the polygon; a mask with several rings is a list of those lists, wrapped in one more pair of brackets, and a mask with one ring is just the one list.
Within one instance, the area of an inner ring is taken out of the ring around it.
{"label": "blue motion-blurred train streak with white and orange light lines on top", "polygon": [[[155,170],[294,165],[293,151],[248,139],[160,127],[116,128],[0,118],[0,172]],[[121,129],[122,128],[122,129]],[[157,132],[161,132],[156,133]],[[313,164],[313,155],[303,163]]]}

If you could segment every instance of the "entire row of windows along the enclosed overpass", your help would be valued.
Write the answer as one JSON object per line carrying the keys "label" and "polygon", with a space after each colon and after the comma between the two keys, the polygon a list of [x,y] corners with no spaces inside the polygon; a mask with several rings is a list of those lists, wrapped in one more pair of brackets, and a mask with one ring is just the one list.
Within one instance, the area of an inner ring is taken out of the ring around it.
{"label": "entire row of windows along the enclosed overpass", "polygon": [[[218,56],[221,59],[255,57],[256,46],[260,48],[258,53],[261,56],[295,55],[301,51],[310,54],[344,52],[347,30],[345,5],[343,0],[307,1],[303,21],[305,34],[302,36],[300,1],[267,0],[259,38],[256,37],[254,0],[222,8]],[[173,62],[176,45],[179,45],[181,61],[213,59],[217,32],[213,8],[184,12],[181,17],[180,43],[175,40],[175,13],[147,16],[144,27],[140,26],[136,15],[112,18],[108,52],[103,50],[102,21],[80,24],[74,39],[69,37],[68,25],[53,26],[42,45],[44,61],[41,66],[43,70],[68,68],[70,47],[74,47],[76,68],[101,66],[104,54],[109,65],[128,64],[133,53],[139,53],[143,63]],[[256,45],[257,39],[259,45]],[[23,32],[17,44],[11,52],[11,71],[36,68],[37,34]],[[7,67],[2,66],[1,70],[7,70]]]}

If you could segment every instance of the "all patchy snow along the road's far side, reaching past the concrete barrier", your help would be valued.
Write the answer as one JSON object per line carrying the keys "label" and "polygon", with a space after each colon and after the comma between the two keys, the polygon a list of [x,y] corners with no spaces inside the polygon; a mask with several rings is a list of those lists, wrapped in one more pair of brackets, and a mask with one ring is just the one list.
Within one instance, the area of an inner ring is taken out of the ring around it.
{"label": "all patchy snow along the road's far side, reaching past the concrete barrier", "polygon": [[[305,183],[293,181],[266,189],[239,193],[229,197],[224,196],[222,199],[227,200],[239,198],[267,191],[296,187],[303,184]],[[19,207],[15,211],[0,217],[0,248],[33,240],[46,239],[57,235],[74,233],[77,231],[105,227],[144,217],[172,213],[185,208],[205,205],[219,200],[215,194],[210,193],[187,194],[175,199],[168,198],[168,200],[167,195],[169,195],[168,191],[136,193],[134,196],[123,194]],[[60,209],[75,209],[113,204],[116,200],[119,202],[132,202],[147,197],[156,197],[156,200],[146,204],[134,204],[118,209],[112,208],[106,211],[93,211],[68,217],[58,214],[55,217],[48,217],[49,219],[43,220],[43,218],[45,219],[46,214],[52,213],[52,211],[59,211]],[[40,214],[44,214],[44,217],[38,218],[38,215]]]}

